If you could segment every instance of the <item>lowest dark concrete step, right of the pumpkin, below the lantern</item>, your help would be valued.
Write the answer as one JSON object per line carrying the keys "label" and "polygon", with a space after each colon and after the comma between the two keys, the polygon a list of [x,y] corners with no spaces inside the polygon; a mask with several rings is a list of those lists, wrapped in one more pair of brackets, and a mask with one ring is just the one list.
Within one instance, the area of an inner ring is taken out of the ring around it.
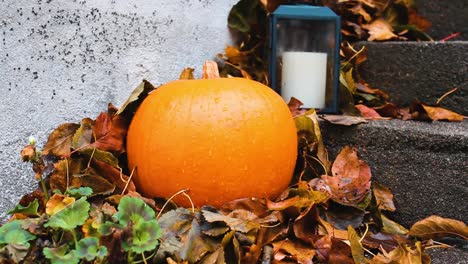
{"label": "lowest dark concrete step, right of the pumpkin, below the lantern", "polygon": [[[321,122],[334,159],[347,146],[357,148],[374,181],[394,194],[395,213],[386,214],[409,228],[431,215],[468,223],[468,121],[370,121],[358,126]],[[468,243],[430,250],[433,263],[468,263]]]}

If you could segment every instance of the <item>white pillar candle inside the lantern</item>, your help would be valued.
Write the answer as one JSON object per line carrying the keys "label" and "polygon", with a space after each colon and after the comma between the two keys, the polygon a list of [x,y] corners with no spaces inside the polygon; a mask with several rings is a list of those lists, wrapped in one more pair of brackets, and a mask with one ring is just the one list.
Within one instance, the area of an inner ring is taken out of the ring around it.
{"label": "white pillar candle inside the lantern", "polygon": [[299,99],[305,108],[325,108],[327,54],[283,52],[281,96],[286,102]]}

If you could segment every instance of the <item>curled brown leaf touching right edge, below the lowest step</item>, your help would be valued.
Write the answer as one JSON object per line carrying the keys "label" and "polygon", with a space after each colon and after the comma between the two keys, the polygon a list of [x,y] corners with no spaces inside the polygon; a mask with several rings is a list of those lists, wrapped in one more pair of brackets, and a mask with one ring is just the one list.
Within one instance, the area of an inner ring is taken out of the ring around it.
{"label": "curled brown leaf touching right edge, below the lowest step", "polygon": [[459,236],[468,240],[468,227],[461,221],[433,215],[416,222],[408,235],[423,239]]}

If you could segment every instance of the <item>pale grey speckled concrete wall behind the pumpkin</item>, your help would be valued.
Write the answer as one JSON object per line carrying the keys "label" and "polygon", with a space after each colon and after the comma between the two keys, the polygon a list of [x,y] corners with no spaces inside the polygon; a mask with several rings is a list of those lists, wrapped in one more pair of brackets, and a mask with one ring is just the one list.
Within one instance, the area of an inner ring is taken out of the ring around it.
{"label": "pale grey speckled concrete wall behind the pumpkin", "polygon": [[19,152],[64,122],[177,79],[229,43],[237,0],[0,0],[0,222],[35,188]]}

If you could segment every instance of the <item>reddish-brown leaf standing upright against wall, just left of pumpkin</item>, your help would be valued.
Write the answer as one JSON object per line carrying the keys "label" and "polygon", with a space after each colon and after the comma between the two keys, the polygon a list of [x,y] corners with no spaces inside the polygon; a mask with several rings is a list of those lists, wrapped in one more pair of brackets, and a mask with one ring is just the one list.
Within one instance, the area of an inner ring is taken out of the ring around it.
{"label": "reddish-brown leaf standing upright against wall, just left of pumpkin", "polygon": [[124,141],[127,136],[128,121],[122,115],[116,115],[117,108],[109,104],[107,113],[101,113],[95,121],[93,133],[95,141],[91,147],[114,153],[125,151]]}

